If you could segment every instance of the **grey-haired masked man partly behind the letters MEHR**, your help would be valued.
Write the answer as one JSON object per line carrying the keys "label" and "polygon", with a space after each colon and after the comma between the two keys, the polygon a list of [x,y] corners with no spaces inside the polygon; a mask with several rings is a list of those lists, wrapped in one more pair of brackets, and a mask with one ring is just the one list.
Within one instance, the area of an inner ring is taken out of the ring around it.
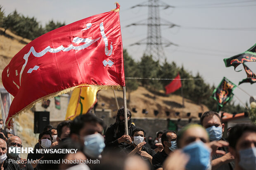
{"label": "grey-haired masked man partly behind the letters MEHR", "polygon": [[[21,148],[22,147],[22,142],[21,142],[21,139],[19,138],[19,136],[11,136],[8,138],[7,140],[7,150],[9,150],[9,148],[13,148],[13,147],[19,147]],[[19,157],[19,154],[18,153],[9,153],[7,152],[7,160],[10,162],[12,160],[14,161],[17,161],[17,160],[21,160],[21,161],[24,161],[24,163],[19,163],[19,167],[21,168],[21,170],[33,170],[33,166],[28,163],[26,161],[26,159],[22,159]]]}

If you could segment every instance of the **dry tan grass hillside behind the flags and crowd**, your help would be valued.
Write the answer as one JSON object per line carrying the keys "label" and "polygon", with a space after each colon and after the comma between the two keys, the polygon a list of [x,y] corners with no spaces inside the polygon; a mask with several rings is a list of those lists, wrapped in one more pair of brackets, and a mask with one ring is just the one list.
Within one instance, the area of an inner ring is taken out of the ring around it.
{"label": "dry tan grass hillside behind the flags and crowd", "polygon": [[[12,57],[31,41],[23,39],[9,30],[6,31],[5,35],[2,32],[3,29],[0,28],[0,85],[2,85],[2,70],[9,64]],[[168,110],[170,112],[169,117],[177,117],[175,112],[180,112],[178,117],[186,117],[186,113],[190,112],[191,117],[198,118],[198,113],[208,110],[206,106],[198,106],[187,99],[185,99],[185,108],[182,108],[182,97],[177,95],[164,96],[164,92],[159,92],[158,94],[149,92],[144,87],[139,87],[132,92],[128,108],[130,110],[136,108],[137,113],[133,113],[133,117],[155,117],[154,110],[159,111],[156,117],[166,117],[165,111]],[[116,95],[119,106],[123,106],[123,92],[118,91]],[[98,103],[98,108],[110,108],[113,110],[112,116],[116,115],[116,103],[112,90],[100,91]],[[105,106],[102,106],[102,103],[105,103]],[[147,115],[142,114],[142,109],[147,109],[149,113]],[[33,147],[38,140],[38,137],[33,133],[33,113],[29,110],[15,119],[19,129],[17,134],[21,136],[23,145]],[[22,157],[25,158],[25,156]]]}

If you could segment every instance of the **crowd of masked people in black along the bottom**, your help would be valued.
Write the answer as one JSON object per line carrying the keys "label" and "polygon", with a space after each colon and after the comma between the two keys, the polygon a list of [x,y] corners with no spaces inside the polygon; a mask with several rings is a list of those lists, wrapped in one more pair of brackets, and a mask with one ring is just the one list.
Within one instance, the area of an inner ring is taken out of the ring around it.
{"label": "crowd of masked people in black along the bottom", "polygon": [[[132,123],[129,110],[127,117],[128,134],[123,108],[106,131],[103,120],[89,113],[61,122],[56,128],[47,125],[27,158],[13,149],[22,147],[21,138],[0,128],[0,169],[256,170],[254,124],[236,124],[229,128],[228,138],[223,138],[225,125],[219,114],[208,111],[201,116],[200,124],[187,124],[178,132],[163,129],[154,140]],[[76,152],[43,154],[37,149]]]}

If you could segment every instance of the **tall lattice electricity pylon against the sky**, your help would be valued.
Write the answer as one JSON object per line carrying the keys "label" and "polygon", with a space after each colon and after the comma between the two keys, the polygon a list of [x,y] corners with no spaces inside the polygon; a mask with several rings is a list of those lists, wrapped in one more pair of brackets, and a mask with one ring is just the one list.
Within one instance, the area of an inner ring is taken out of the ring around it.
{"label": "tall lattice electricity pylon against the sky", "polygon": [[168,40],[163,41],[161,36],[161,25],[169,26],[170,28],[177,25],[170,23],[169,21],[165,21],[165,23],[163,23],[160,18],[159,7],[164,7],[164,9],[167,9],[173,6],[170,6],[159,0],[148,0],[147,4],[142,3],[131,8],[135,7],[148,7],[147,23],[145,23],[145,21],[141,21],[139,23],[132,23],[126,27],[132,25],[147,25],[147,38],[137,41],[136,43],[131,44],[131,46],[146,44],[146,49],[144,51],[145,55],[152,55],[152,57],[154,57],[156,60],[159,60],[162,57],[166,57],[163,46],[167,47],[171,45],[178,45],[173,44]]}

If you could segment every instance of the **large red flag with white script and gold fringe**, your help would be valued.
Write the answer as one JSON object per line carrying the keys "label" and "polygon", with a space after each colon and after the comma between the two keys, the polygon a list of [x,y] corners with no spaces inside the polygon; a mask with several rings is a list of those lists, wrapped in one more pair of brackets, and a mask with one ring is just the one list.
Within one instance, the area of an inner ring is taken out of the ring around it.
{"label": "large red flag with white script and gold fringe", "polygon": [[19,51],[2,72],[14,96],[6,124],[50,96],[76,87],[125,86],[119,7],[52,30]]}

